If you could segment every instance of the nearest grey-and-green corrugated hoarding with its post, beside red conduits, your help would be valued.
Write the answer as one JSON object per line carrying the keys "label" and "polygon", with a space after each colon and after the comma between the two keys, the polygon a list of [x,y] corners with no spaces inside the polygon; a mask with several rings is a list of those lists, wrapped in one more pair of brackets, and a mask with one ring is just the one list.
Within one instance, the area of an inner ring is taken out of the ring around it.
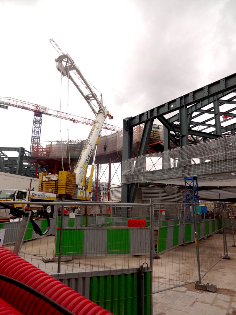
{"label": "nearest grey-and-green corrugated hoarding with its post, beside red conduits", "polygon": [[[144,268],[144,314],[150,314],[150,272]],[[97,272],[53,274],[114,315],[140,314],[140,269],[114,269]]]}

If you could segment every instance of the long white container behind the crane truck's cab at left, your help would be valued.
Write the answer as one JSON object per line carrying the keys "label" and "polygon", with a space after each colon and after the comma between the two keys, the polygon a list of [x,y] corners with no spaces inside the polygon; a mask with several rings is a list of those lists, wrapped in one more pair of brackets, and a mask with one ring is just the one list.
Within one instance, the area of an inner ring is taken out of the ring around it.
{"label": "long white container behind the crane truck's cab at left", "polygon": [[2,189],[27,190],[28,188],[30,188],[31,179],[32,179],[31,190],[34,188],[34,191],[37,192],[38,178],[0,172],[0,190]]}

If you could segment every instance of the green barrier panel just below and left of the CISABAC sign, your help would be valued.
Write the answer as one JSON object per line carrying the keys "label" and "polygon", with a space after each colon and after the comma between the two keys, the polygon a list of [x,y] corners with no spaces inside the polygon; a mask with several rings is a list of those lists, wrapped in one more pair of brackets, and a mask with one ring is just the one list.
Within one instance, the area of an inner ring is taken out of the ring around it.
{"label": "green barrier panel just below and left of the CISABAC sign", "polygon": [[107,254],[130,254],[128,229],[107,230]]}

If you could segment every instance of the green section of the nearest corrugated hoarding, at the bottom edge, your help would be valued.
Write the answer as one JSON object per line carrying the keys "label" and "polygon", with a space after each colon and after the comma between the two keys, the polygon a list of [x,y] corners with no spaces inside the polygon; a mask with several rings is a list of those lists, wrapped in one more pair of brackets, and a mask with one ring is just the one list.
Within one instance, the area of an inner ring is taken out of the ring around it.
{"label": "green section of the nearest corrugated hoarding, at the bottom edge", "polygon": [[[144,273],[145,315],[150,314],[150,272]],[[89,299],[115,315],[138,315],[140,274],[91,277]]]}

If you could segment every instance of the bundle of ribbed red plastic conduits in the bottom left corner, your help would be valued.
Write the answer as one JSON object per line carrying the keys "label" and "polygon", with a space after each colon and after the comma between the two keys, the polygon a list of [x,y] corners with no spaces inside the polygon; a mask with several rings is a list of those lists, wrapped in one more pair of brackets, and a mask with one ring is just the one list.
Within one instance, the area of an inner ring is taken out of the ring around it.
{"label": "bundle of ribbed red plastic conduits in the bottom left corner", "polygon": [[[76,315],[113,315],[3,247],[0,247],[0,273],[40,291]],[[17,310],[14,311],[15,313],[13,311],[4,313],[3,311],[3,313],[0,312],[1,314],[62,314],[42,299],[1,280],[0,298],[1,301],[9,303],[13,307],[12,310]]]}

